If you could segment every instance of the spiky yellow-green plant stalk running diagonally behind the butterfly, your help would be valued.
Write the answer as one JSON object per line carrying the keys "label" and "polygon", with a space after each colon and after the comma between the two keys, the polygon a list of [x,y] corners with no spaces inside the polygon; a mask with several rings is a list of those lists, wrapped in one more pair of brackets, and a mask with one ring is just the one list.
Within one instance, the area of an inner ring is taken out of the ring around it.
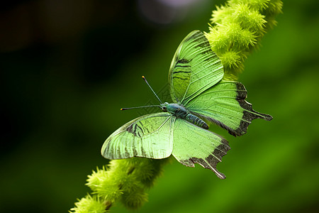
{"label": "spiky yellow-green plant stalk running diagonally behind the butterfly", "polygon": [[[281,13],[280,0],[230,0],[213,11],[209,33],[212,50],[223,63],[225,80],[237,80],[243,62],[260,45],[264,33],[275,26]],[[138,209],[147,201],[147,190],[154,185],[170,158],[154,160],[129,158],[110,160],[107,167],[97,168],[86,185],[92,192],[75,203],[69,212],[108,212],[120,201],[128,209]]]}

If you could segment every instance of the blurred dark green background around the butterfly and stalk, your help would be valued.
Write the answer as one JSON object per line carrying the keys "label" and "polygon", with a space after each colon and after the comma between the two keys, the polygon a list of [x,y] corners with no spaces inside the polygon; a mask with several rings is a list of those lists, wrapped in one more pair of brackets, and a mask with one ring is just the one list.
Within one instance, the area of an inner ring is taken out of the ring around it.
{"label": "blurred dark green background around the butterfly and stalk", "polygon": [[[224,1],[8,1],[0,7],[0,212],[67,212],[108,160],[103,141],[155,102],[174,51]],[[138,212],[319,212],[319,4],[284,1],[245,62],[254,120],[219,180],[173,160]],[[169,100],[168,100],[169,101]],[[116,204],[111,212],[130,212]]]}

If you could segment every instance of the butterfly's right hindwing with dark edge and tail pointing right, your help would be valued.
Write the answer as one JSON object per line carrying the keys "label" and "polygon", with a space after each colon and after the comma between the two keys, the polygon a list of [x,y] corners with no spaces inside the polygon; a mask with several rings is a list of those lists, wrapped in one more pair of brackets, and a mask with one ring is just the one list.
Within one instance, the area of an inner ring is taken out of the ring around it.
{"label": "butterfly's right hindwing with dark edge and tail pointing right", "polygon": [[254,111],[246,97],[247,90],[240,82],[220,81],[191,99],[185,107],[202,119],[227,129],[233,136],[241,136],[253,119],[272,120],[272,116]]}

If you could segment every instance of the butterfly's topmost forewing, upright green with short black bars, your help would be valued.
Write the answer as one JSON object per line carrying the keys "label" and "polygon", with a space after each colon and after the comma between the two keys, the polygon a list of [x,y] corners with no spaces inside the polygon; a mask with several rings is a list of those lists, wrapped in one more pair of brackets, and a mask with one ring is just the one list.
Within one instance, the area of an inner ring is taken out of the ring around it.
{"label": "butterfly's topmost forewing, upright green with short black bars", "polygon": [[223,78],[223,65],[201,31],[192,31],[181,41],[169,68],[173,102],[196,97]]}

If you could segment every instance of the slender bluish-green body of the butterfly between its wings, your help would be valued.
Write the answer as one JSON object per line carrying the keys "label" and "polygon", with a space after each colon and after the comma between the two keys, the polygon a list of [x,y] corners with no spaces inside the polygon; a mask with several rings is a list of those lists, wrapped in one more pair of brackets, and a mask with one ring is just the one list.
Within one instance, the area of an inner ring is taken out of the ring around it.
{"label": "slender bluish-green body of the butterfly between its wings", "polygon": [[165,102],[164,104],[161,104],[161,109],[162,111],[167,111],[179,119],[185,119],[186,121],[189,121],[196,126],[199,126],[203,129],[208,129],[208,125],[205,121],[198,118],[198,116],[191,114],[191,111],[181,106],[180,104],[169,104]]}

